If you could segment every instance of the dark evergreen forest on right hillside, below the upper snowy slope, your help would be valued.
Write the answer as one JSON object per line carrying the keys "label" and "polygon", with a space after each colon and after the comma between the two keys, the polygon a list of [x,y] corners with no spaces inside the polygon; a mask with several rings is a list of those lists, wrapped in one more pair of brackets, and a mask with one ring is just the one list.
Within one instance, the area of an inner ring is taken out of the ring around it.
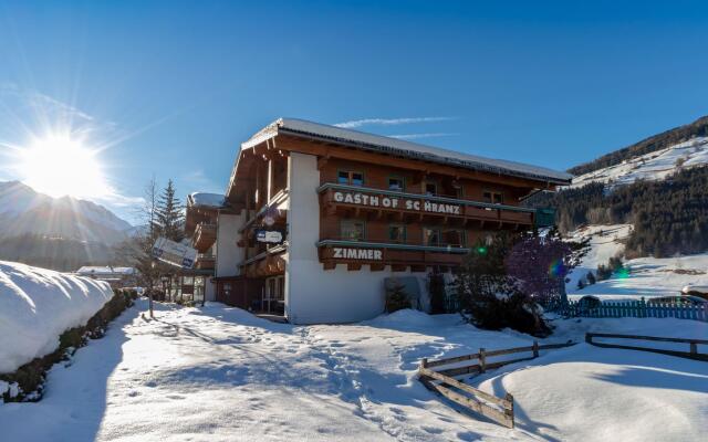
{"label": "dark evergreen forest on right hillside, below the upper snowy slope", "polygon": [[660,181],[614,188],[590,183],[539,193],[529,207],[554,207],[562,232],[581,224],[632,223],[627,257],[666,257],[708,250],[708,167],[681,170]]}

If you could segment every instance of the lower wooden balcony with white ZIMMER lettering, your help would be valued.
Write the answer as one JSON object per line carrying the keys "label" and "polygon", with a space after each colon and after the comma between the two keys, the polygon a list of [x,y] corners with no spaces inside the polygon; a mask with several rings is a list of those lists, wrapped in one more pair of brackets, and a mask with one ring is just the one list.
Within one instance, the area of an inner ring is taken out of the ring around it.
{"label": "lower wooden balcony with white ZIMMER lettering", "polygon": [[384,240],[325,239],[316,245],[324,270],[346,264],[348,270],[357,271],[367,264],[373,272],[383,271],[386,265],[391,265],[394,272],[404,272],[408,267],[414,272],[425,272],[428,266],[456,267],[470,251],[461,244],[426,245]]}

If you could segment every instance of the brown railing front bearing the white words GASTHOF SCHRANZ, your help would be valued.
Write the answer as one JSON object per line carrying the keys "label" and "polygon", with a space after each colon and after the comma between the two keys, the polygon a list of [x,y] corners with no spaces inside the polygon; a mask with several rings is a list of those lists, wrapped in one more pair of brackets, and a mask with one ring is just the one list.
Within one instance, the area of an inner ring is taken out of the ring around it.
{"label": "brown railing front bearing the white words GASTHOF SCHRANZ", "polygon": [[533,224],[534,209],[492,204],[462,198],[408,193],[327,182],[317,188],[325,206],[381,210],[404,214],[440,215],[510,223]]}

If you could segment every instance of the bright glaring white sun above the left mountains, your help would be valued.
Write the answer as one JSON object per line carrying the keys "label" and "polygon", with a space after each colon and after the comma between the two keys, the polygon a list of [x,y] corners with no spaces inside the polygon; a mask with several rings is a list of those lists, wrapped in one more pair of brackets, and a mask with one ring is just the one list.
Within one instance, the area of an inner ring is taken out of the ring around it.
{"label": "bright glaring white sun above the left mountains", "polygon": [[37,138],[18,154],[22,181],[38,192],[55,198],[100,198],[110,191],[98,150],[69,134]]}

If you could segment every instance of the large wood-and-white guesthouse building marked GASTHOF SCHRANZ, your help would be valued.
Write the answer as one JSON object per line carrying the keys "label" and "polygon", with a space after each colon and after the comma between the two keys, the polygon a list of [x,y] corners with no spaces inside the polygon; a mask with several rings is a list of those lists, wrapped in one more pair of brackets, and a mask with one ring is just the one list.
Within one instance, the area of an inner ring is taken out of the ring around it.
{"label": "large wood-and-white guesthouse building marked GASTHOF SCHRANZ", "polygon": [[570,182],[544,167],[278,119],[241,145],[225,196],[188,198],[186,230],[214,266],[208,298],[296,324],[354,322],[383,311],[387,278],[423,282],[493,232],[548,223],[521,201]]}

